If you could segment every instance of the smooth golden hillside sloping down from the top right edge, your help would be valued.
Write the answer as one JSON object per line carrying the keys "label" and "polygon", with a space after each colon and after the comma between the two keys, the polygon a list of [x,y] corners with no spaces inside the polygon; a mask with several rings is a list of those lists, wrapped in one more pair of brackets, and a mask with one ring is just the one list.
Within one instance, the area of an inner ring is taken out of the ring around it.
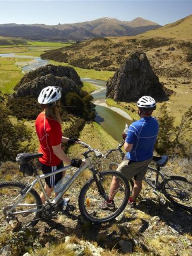
{"label": "smooth golden hillside sloping down from the top right edge", "polygon": [[192,39],[192,14],[176,22],[166,24],[153,31],[147,31],[141,36],[162,36],[177,39]]}

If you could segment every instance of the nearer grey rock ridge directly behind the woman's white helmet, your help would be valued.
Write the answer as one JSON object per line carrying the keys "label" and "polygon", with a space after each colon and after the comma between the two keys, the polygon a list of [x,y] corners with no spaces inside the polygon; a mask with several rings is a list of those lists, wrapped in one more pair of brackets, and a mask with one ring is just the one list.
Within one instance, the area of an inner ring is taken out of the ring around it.
{"label": "nearer grey rock ridge directly behind the woman's white helmet", "polygon": [[32,81],[20,85],[17,91],[14,93],[14,96],[33,96],[34,98],[38,98],[39,93],[46,86],[60,86],[62,88],[62,95],[65,95],[68,92],[80,94],[81,90],[73,80],[65,76],[58,77],[53,76],[52,74],[47,74],[45,76],[36,77]]}

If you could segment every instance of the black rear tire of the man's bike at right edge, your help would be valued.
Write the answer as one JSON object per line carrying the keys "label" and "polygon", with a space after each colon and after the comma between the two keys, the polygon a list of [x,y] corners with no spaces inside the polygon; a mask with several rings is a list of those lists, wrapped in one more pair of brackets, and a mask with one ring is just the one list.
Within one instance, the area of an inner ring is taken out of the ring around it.
{"label": "black rear tire of the man's bike at right edge", "polygon": [[[175,186],[179,186],[179,182],[183,182],[183,183],[185,183],[185,184],[188,184],[188,186],[189,186],[189,188],[190,188],[190,191],[187,191],[187,189],[184,189],[183,188],[183,186],[181,186],[180,185],[180,187],[182,188],[182,190],[181,191],[178,191],[180,188],[178,188],[177,187],[177,189],[170,189],[170,187],[171,187],[171,182],[172,183],[174,183],[175,184]],[[192,206],[187,206],[187,205],[183,205],[183,204],[181,204],[181,203],[178,203],[176,200],[180,200],[180,201],[182,201],[182,199],[184,199],[183,200],[183,202],[187,202],[187,200],[191,200],[191,202],[192,202],[192,183],[191,182],[189,182],[187,179],[185,179],[185,178],[183,178],[183,177],[170,177],[170,179],[166,179],[166,180],[164,180],[163,182],[162,182],[162,184],[161,184],[161,189],[162,189],[162,192],[163,192],[163,194],[165,195],[165,197],[169,200],[169,201],[171,201],[171,203],[173,203],[173,204],[175,204],[176,206],[178,206],[178,207],[181,207],[181,208],[183,208],[183,209],[185,209],[185,210],[189,210],[189,211],[192,211]],[[171,196],[171,194],[169,193],[169,190],[172,190],[172,191],[174,191],[175,192],[175,194],[177,195],[177,196],[175,196],[175,195],[172,195]],[[177,192],[177,191],[178,192]],[[186,192],[187,191],[187,192]],[[183,193],[183,194],[182,194]],[[174,198],[174,199],[173,199]],[[185,203],[185,204],[187,204],[187,203]]]}

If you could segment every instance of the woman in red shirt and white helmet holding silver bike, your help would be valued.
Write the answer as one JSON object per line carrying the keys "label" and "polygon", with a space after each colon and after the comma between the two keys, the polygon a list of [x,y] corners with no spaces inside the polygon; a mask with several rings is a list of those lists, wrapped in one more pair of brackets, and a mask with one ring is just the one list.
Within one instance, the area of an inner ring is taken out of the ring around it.
{"label": "woman in red shirt and white helmet holding silver bike", "polygon": [[[61,143],[75,143],[77,140],[62,136],[60,118],[61,91],[55,86],[44,88],[39,94],[38,103],[44,111],[41,112],[35,122],[36,132],[39,138],[39,152],[43,156],[39,158],[43,174],[47,174],[63,167],[63,162],[74,167],[80,167],[82,160],[70,159],[62,150]],[[65,172],[45,178],[45,191],[50,196],[54,186],[62,179]],[[55,193],[57,196],[57,193]],[[45,203],[45,196],[41,193],[41,200]]]}

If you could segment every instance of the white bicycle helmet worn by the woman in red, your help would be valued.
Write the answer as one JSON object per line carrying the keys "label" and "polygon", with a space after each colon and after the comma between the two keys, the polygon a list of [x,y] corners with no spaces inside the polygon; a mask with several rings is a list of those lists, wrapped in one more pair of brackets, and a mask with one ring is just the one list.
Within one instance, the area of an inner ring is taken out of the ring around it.
{"label": "white bicycle helmet worn by the woman in red", "polygon": [[38,103],[49,104],[61,98],[61,91],[55,86],[47,86],[43,88],[38,97]]}

